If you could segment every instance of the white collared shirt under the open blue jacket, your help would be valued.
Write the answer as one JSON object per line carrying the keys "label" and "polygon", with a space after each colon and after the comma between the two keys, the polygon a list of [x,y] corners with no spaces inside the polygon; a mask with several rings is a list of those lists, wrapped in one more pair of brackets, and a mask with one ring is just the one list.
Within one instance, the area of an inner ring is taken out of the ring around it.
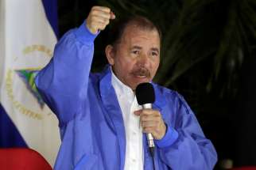
{"label": "white collared shirt under the open blue jacket", "polygon": [[142,107],[138,105],[133,90],[119,81],[113,71],[111,72],[111,83],[118,97],[126,130],[126,161],[124,169],[141,170],[144,164],[142,127],[140,127],[139,116],[134,115],[134,111],[142,109]]}

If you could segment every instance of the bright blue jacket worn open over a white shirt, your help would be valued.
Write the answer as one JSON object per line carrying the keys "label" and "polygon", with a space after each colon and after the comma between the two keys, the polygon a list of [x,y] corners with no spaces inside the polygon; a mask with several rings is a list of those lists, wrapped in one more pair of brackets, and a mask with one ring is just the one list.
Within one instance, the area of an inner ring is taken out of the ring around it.
{"label": "bright blue jacket worn open over a white shirt", "polygon": [[[126,135],[111,70],[108,66],[101,74],[90,74],[95,37],[85,25],[67,32],[36,77],[37,89],[60,123],[55,169],[124,168]],[[153,108],[168,127],[168,135],[156,141],[156,169],[212,169],[217,160],[214,146],[184,98],[160,85],[153,87]],[[153,169],[145,135],[143,142],[144,169]]]}

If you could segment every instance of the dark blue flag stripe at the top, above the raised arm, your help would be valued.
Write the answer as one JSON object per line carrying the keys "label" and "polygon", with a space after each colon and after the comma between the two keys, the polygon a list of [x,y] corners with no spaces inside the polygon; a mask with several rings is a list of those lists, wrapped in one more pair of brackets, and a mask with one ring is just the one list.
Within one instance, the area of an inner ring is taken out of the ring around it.
{"label": "dark blue flag stripe at the top, above the raised arm", "polygon": [[52,26],[52,29],[58,39],[59,31],[58,31],[58,13],[57,13],[57,0],[42,0],[46,17],[48,22]]}

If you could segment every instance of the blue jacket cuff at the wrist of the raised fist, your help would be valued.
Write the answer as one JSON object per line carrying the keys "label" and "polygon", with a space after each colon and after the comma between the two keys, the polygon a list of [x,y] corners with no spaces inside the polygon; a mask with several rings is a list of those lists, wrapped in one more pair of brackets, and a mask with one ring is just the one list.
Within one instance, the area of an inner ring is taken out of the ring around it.
{"label": "blue jacket cuff at the wrist of the raised fist", "polygon": [[99,31],[93,34],[87,28],[86,21],[84,21],[83,24],[76,29],[75,35],[76,35],[76,39],[80,40],[80,42],[82,43],[93,43],[95,38],[99,35]]}

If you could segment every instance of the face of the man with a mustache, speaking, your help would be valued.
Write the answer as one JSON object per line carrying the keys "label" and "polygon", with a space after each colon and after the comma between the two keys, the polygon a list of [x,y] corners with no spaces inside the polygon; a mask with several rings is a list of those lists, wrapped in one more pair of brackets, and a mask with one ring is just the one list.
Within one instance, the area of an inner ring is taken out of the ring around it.
{"label": "face of the man with a mustache, speaking", "polygon": [[160,62],[158,32],[128,25],[120,43],[115,49],[108,46],[106,54],[114,74],[134,90],[138,84],[152,81],[157,72]]}

